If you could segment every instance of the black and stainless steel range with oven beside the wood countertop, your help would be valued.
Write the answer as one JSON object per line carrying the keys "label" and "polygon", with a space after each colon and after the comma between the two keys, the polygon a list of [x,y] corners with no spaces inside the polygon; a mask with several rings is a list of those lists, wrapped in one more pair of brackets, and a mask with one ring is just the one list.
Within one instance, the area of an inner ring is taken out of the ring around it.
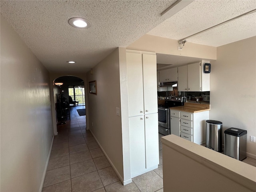
{"label": "black and stainless steel range with oven beside the wood countertop", "polygon": [[170,134],[169,108],[183,106],[186,98],[182,96],[168,96],[164,104],[158,105],[158,132],[163,135]]}

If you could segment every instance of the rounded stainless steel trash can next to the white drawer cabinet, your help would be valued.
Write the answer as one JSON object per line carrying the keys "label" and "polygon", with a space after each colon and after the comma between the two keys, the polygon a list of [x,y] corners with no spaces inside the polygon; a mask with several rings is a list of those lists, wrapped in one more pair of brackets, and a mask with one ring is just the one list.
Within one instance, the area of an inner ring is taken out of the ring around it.
{"label": "rounded stainless steel trash can next to the white drawer cabinet", "polygon": [[206,120],[206,147],[222,152],[222,122]]}

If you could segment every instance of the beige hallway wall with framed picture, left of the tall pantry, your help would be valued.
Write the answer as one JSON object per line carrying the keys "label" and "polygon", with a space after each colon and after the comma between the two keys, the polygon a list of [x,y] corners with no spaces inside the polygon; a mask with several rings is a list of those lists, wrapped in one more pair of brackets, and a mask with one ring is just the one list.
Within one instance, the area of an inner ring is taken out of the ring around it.
{"label": "beige hallway wall with framed picture, left of the tall pantry", "polygon": [[[92,74],[88,72],[86,78],[87,88],[90,81],[96,80],[97,84],[97,95],[87,89],[90,131],[123,182],[119,48],[92,68]],[[116,107],[120,109],[120,116],[116,115]]]}

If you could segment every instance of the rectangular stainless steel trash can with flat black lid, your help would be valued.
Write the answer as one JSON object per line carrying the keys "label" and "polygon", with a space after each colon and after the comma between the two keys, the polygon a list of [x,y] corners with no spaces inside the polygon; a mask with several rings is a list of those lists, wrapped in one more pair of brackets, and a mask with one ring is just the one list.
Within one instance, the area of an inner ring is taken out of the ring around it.
{"label": "rectangular stainless steel trash can with flat black lid", "polygon": [[246,158],[247,131],[228,128],[224,131],[224,154],[237,160]]}

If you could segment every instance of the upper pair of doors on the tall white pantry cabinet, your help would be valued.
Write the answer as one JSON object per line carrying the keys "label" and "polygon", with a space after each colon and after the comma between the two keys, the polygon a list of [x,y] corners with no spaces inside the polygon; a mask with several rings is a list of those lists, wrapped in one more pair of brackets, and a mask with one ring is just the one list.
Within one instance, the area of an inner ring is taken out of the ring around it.
{"label": "upper pair of doors on the tall white pantry cabinet", "polygon": [[157,113],[156,55],[127,52],[129,117]]}

